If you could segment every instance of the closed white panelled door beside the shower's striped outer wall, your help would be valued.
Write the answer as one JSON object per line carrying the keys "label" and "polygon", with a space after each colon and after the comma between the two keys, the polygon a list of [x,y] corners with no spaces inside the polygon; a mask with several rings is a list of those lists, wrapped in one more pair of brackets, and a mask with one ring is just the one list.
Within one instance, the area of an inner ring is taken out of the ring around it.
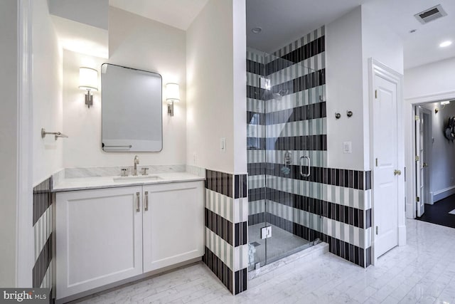
{"label": "closed white panelled door beside the shower's striped outer wall", "polygon": [[373,195],[375,256],[398,245],[397,83],[375,75]]}

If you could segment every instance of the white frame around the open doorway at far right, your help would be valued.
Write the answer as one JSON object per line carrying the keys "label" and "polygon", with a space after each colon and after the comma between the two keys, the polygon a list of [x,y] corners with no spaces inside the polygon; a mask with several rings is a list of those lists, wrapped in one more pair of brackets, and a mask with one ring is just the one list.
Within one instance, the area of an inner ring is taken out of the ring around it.
{"label": "white frame around the open doorway at far right", "polygon": [[[429,95],[419,95],[405,99],[405,140],[406,140],[406,167],[409,169],[410,179],[415,181],[415,164],[414,164],[414,146],[415,146],[415,106],[422,103],[436,103],[442,100],[449,100],[455,98],[455,91],[446,91],[440,93],[434,93]],[[406,196],[408,198],[406,203],[406,218],[415,219],[417,214],[417,204],[415,197],[417,196],[415,189],[415,182],[407,183],[406,185]]]}

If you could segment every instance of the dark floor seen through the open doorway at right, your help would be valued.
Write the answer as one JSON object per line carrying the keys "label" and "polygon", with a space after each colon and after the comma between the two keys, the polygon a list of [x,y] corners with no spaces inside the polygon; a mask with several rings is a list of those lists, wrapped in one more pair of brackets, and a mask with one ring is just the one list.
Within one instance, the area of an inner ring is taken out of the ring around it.
{"label": "dark floor seen through the open doorway at right", "polygon": [[441,199],[434,205],[425,204],[425,213],[417,217],[420,221],[438,224],[446,227],[455,228],[455,214],[449,214],[455,209],[455,194],[445,199]]}

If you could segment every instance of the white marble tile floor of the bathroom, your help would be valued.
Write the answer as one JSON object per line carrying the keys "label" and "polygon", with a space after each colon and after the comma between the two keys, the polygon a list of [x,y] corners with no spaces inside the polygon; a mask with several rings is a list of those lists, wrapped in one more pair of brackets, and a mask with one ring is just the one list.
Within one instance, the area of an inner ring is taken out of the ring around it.
{"label": "white marble tile floor of the bathroom", "polygon": [[203,263],[83,303],[455,303],[455,229],[407,220],[407,246],[367,269],[331,253],[232,296]]}

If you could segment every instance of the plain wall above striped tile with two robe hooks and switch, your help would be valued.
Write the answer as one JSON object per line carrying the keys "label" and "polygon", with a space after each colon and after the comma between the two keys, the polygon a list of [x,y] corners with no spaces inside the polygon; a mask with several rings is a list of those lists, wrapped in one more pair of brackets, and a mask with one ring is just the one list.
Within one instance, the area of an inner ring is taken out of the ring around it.
{"label": "plain wall above striped tile with two robe hooks and switch", "polygon": [[[326,26],[327,162],[330,168],[363,170],[363,61],[360,6]],[[353,111],[350,118],[346,111]],[[341,113],[336,120],[335,113]],[[352,154],[343,154],[352,142]]]}

